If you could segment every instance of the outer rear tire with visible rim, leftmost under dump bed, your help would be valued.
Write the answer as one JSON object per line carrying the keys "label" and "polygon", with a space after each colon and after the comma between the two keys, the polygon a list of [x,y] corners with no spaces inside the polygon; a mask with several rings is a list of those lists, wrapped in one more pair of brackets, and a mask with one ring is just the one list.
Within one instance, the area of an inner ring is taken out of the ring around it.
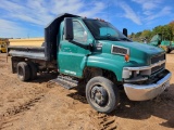
{"label": "outer rear tire with visible rim, leftmost under dump bed", "polygon": [[27,81],[30,77],[29,66],[26,62],[20,62],[17,64],[17,76],[20,80]]}

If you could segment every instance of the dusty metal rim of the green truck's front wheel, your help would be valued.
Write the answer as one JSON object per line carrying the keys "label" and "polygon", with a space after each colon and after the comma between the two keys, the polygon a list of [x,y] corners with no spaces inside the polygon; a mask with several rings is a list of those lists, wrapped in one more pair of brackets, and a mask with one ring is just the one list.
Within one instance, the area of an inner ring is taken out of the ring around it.
{"label": "dusty metal rim of the green truck's front wheel", "polygon": [[101,86],[95,86],[90,92],[90,99],[94,104],[105,106],[108,103],[108,92]]}

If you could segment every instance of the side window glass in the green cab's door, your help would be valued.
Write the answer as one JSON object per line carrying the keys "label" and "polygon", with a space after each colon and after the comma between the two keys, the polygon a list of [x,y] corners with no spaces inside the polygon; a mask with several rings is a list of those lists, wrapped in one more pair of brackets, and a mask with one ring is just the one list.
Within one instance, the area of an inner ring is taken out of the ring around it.
{"label": "side window glass in the green cab's door", "polygon": [[73,22],[73,32],[74,32],[74,41],[86,42],[87,41],[87,32],[82,24],[77,21]]}

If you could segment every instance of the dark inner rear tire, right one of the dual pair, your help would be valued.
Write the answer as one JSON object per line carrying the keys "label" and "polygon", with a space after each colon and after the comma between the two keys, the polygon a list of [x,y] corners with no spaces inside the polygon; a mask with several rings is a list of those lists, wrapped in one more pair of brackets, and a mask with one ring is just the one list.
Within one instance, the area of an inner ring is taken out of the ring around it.
{"label": "dark inner rear tire, right one of the dual pair", "polygon": [[36,67],[36,65],[33,62],[28,62],[28,66],[29,66],[29,69],[30,69],[30,77],[29,77],[29,79],[34,80],[34,79],[37,78],[37,67]]}

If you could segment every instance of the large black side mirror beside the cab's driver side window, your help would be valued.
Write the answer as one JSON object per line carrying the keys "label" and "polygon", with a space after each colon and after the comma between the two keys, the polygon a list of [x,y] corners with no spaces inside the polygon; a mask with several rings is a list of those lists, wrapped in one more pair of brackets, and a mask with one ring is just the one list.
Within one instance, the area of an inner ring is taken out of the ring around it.
{"label": "large black side mirror beside the cab's driver side window", "polygon": [[73,40],[73,21],[71,17],[64,18],[64,36],[66,40]]}

